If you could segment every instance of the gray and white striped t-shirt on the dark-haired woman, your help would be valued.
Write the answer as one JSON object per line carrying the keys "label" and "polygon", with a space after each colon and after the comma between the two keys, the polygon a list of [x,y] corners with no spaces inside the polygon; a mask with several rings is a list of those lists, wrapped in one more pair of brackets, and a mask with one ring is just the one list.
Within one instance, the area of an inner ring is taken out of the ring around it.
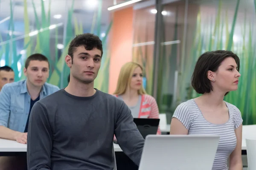
{"label": "gray and white striped t-shirt on the dark-haired woman", "polygon": [[229,120],[221,125],[215,125],[204,119],[194,99],[181,103],[173,117],[180,120],[189,130],[189,135],[218,135],[220,140],[215,154],[212,170],[227,170],[227,161],[236,148],[237,129],[243,122],[241,112],[236,106],[225,102],[229,111]]}

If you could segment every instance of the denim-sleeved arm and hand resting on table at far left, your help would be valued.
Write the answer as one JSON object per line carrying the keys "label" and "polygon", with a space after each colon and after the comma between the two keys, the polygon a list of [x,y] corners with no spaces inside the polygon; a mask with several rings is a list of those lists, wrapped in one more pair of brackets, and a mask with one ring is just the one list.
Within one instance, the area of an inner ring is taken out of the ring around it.
{"label": "denim-sleeved arm and hand resting on table at far left", "polygon": [[21,133],[8,128],[11,105],[11,92],[6,85],[0,92],[0,138],[26,143],[26,133]]}

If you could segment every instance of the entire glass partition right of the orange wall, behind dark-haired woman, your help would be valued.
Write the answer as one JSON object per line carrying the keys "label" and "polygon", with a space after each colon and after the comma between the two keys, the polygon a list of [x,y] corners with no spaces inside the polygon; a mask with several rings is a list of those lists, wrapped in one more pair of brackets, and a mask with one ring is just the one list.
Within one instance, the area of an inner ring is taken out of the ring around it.
{"label": "entire glass partition right of the orange wall, behind dark-haired woman", "polygon": [[[244,125],[256,124],[256,4],[251,0],[155,1],[154,69],[151,94],[160,113],[199,96],[190,79],[205,51],[231,50],[240,58],[239,89],[225,101],[241,111]],[[160,11],[160,12],[159,12]]]}

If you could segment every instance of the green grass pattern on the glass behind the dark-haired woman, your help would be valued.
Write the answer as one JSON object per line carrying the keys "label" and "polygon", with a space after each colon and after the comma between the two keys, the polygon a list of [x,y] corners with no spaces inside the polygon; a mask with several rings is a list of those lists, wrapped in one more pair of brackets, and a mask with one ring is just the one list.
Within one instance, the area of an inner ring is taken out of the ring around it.
{"label": "green grass pattern on the glass behind the dark-haired woman", "polygon": [[[256,0],[254,0],[256,4]],[[240,81],[237,91],[231,91],[224,100],[236,105],[241,111],[244,125],[256,124],[256,57],[255,57],[255,41],[253,40],[253,23],[247,19],[247,13],[238,12],[241,0],[236,0],[233,10],[232,23],[229,24],[230,17],[228,11],[222,8],[221,0],[217,7],[217,15],[215,16],[215,24],[212,23],[212,17],[209,17],[211,26],[209,29],[202,29],[201,12],[198,13],[197,29],[195,32],[195,43],[191,49],[191,54],[187,58],[182,74],[182,88],[180,89],[181,99],[191,99],[199,96],[191,87],[189,78],[192,75],[194,65],[198,57],[204,51],[213,51],[218,49],[231,50],[238,54],[240,58]],[[256,6],[256,5],[255,5]],[[237,23],[238,14],[244,14],[244,24]],[[241,27],[242,40],[240,43],[233,41],[236,28]],[[223,35],[226,35],[226,41],[223,40]],[[193,65],[193,66],[191,66]],[[184,96],[187,98],[185,99]]]}

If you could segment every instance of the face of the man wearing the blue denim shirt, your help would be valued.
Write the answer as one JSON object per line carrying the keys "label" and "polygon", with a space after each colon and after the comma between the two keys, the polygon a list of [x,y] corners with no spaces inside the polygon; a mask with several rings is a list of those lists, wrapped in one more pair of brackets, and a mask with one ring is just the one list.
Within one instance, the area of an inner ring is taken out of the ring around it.
{"label": "face of the man wearing the blue denim shirt", "polygon": [[24,74],[31,85],[41,87],[49,77],[49,64],[47,61],[31,60],[28,68],[24,68]]}

